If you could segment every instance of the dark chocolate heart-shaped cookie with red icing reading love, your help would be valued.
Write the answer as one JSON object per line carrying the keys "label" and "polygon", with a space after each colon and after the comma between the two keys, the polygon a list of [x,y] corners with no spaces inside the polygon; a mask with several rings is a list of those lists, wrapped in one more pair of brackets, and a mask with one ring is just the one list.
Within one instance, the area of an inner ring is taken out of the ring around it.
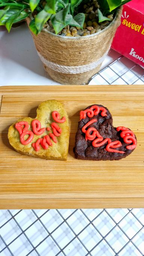
{"label": "dark chocolate heart-shaped cookie with red icing reading love", "polygon": [[120,160],[136,148],[135,134],[124,126],[114,128],[108,108],[91,105],[80,111],[75,157],[83,160]]}

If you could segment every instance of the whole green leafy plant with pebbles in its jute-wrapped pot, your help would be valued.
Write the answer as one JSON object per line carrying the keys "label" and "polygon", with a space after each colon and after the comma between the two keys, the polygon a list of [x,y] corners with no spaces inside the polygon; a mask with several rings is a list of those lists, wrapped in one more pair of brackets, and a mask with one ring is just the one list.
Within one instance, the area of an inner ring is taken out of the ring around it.
{"label": "whole green leafy plant with pebbles in its jute-wrapped pot", "polygon": [[0,0],[0,25],[27,21],[46,72],[62,84],[96,74],[130,0]]}

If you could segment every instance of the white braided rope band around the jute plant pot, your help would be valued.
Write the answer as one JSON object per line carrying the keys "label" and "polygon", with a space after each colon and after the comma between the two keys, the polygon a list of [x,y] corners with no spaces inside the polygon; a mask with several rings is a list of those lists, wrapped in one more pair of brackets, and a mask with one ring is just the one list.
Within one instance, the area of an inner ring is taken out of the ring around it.
{"label": "white braided rope band around the jute plant pot", "polygon": [[37,54],[39,55],[42,62],[48,68],[51,68],[52,70],[55,70],[55,71],[60,72],[60,73],[65,73],[65,74],[79,74],[79,73],[84,73],[84,72],[90,71],[90,70],[96,68],[98,65],[100,65],[103,62],[103,60],[105,59],[105,57],[107,56],[109,50],[110,50],[110,48],[99,60],[97,60],[95,62],[92,62],[92,63],[89,63],[89,64],[86,64],[86,65],[81,65],[81,66],[63,66],[63,65],[59,65],[59,64],[56,64],[56,63],[51,62],[49,60],[46,60],[38,51],[37,51]]}

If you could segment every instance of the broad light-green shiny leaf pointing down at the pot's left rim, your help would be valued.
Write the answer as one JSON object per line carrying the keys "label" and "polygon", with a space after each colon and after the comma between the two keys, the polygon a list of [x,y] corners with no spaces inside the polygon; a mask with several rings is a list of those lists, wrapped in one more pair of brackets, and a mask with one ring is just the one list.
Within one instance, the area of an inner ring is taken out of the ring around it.
{"label": "broad light-green shiny leaf pointing down at the pot's left rim", "polygon": [[35,26],[38,30],[38,32],[40,32],[43,28],[43,25],[46,23],[46,21],[51,17],[51,14],[49,14],[48,12],[46,12],[45,10],[42,10],[41,12],[39,12],[36,15],[35,18]]}

